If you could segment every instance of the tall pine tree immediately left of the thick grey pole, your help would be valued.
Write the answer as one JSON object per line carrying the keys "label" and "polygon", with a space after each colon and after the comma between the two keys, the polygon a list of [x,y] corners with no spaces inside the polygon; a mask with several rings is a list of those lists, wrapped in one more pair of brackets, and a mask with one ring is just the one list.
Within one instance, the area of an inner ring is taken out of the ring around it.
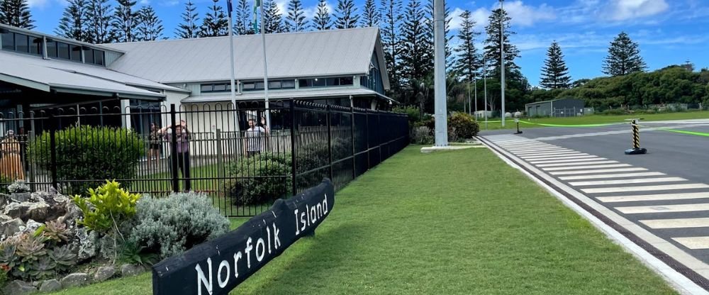
{"label": "tall pine tree immediately left of the thick grey pole", "polygon": [[406,6],[401,35],[401,74],[403,80],[423,80],[432,73],[433,44],[427,36],[425,12],[419,0],[411,0]]}

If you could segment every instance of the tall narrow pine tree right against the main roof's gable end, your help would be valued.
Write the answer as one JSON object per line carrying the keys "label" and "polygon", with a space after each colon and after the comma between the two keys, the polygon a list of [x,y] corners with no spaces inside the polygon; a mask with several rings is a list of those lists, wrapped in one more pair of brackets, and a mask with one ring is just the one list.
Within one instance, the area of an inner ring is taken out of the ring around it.
{"label": "tall narrow pine tree right against the main roof's gable end", "polygon": [[398,34],[403,16],[401,0],[381,0],[381,47],[384,50],[386,69],[389,72],[389,84],[393,94],[400,93],[399,77],[401,69],[401,36]]}

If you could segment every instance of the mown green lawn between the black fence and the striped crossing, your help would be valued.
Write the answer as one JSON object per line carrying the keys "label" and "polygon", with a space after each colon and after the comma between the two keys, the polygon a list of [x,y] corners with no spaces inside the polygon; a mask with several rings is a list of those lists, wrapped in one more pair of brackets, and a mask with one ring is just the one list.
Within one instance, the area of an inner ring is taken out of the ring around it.
{"label": "mown green lawn between the black fence and the striped crossing", "polygon": [[[676,294],[486,149],[391,157],[233,294]],[[233,226],[245,221],[234,219]],[[150,274],[57,294],[150,294]]]}

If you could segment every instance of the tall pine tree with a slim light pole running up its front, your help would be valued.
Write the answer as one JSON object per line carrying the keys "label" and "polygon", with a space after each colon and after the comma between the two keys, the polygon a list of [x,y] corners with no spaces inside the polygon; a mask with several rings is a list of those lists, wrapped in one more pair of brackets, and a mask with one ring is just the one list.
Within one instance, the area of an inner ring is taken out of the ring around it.
{"label": "tall pine tree with a slim light pole running up its front", "polygon": [[[515,32],[510,30],[510,18],[507,15],[507,11],[503,9],[495,9],[490,14],[488,26],[485,27],[485,32],[487,33],[487,39],[485,40],[485,55],[488,60],[488,65],[493,67],[494,73],[491,76],[496,76],[500,74],[500,62],[501,62],[501,52],[500,52],[500,42],[502,41],[505,48],[505,69],[506,72],[518,71],[520,67],[515,64],[515,58],[520,57],[520,50],[517,46],[510,43],[510,35],[514,35]],[[500,38],[500,23],[504,25],[504,34],[501,40]]]}

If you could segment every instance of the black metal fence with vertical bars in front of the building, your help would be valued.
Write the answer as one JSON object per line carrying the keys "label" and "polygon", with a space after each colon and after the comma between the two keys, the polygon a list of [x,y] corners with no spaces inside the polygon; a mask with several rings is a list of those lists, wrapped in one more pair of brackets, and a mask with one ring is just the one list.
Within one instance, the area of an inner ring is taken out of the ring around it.
{"label": "black metal fence with vertical bars in front of the building", "polygon": [[305,101],[2,115],[0,190],[25,179],[86,194],[115,179],[142,194],[206,193],[225,216],[261,213],[323,177],[340,189],[408,144],[405,115]]}

